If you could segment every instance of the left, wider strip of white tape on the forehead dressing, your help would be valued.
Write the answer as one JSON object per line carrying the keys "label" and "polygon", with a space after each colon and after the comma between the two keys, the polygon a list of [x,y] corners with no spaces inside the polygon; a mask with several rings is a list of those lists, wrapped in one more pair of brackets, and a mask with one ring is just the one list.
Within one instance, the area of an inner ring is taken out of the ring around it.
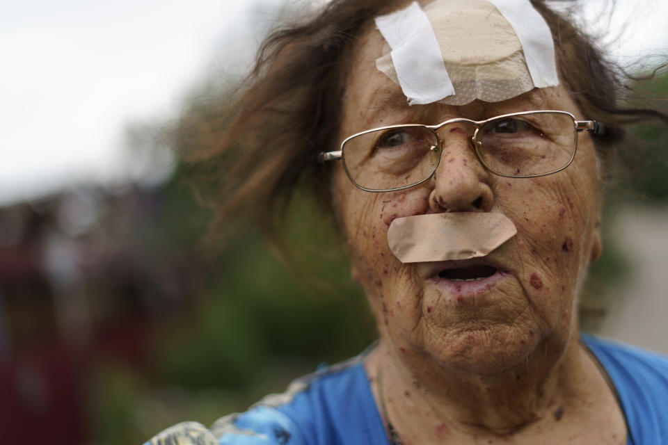
{"label": "left, wider strip of white tape on the forehead dressing", "polygon": [[434,29],[415,1],[376,17],[376,26],[392,49],[392,63],[408,104],[431,104],[454,95]]}

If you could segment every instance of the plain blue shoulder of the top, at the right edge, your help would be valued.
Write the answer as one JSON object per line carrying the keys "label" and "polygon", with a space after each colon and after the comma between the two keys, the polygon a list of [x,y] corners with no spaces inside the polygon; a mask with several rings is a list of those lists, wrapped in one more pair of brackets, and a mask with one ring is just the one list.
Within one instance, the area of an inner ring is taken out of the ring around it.
{"label": "plain blue shoulder of the top, at the right edge", "polygon": [[583,334],[619,395],[637,444],[668,443],[668,357]]}

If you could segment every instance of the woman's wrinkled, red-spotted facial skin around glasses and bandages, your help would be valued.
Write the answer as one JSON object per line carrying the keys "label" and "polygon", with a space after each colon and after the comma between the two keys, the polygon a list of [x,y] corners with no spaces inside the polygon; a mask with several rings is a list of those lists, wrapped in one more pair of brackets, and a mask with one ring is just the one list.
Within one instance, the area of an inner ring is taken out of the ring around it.
{"label": "woman's wrinkled, red-spotted facial skin around glasses and bandages", "polygon": [[[409,107],[399,86],[376,70],[382,49],[375,30],[358,43],[340,140],[390,124],[483,120],[517,111],[562,110],[586,118],[562,86],[498,103]],[[598,175],[586,133],[580,133],[578,153],[566,170],[531,179],[486,171],[470,147],[471,134],[459,124],[440,130],[440,165],[420,186],[367,193],[351,184],[340,163],[333,183],[353,276],[365,288],[381,337],[408,361],[420,356],[463,371],[495,373],[536,350],[564,350],[575,329],[578,287],[600,252]],[[401,264],[388,248],[392,220],[443,211],[503,213],[518,234],[481,259]]]}

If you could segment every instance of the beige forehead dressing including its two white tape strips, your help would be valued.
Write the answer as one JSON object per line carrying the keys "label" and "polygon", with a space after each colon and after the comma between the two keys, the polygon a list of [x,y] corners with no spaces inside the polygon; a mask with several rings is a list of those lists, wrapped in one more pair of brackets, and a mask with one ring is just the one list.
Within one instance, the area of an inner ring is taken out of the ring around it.
{"label": "beige forehead dressing including its two white tape strips", "polygon": [[436,0],[376,17],[376,67],[408,104],[500,102],[559,85],[545,19],[529,0]]}

